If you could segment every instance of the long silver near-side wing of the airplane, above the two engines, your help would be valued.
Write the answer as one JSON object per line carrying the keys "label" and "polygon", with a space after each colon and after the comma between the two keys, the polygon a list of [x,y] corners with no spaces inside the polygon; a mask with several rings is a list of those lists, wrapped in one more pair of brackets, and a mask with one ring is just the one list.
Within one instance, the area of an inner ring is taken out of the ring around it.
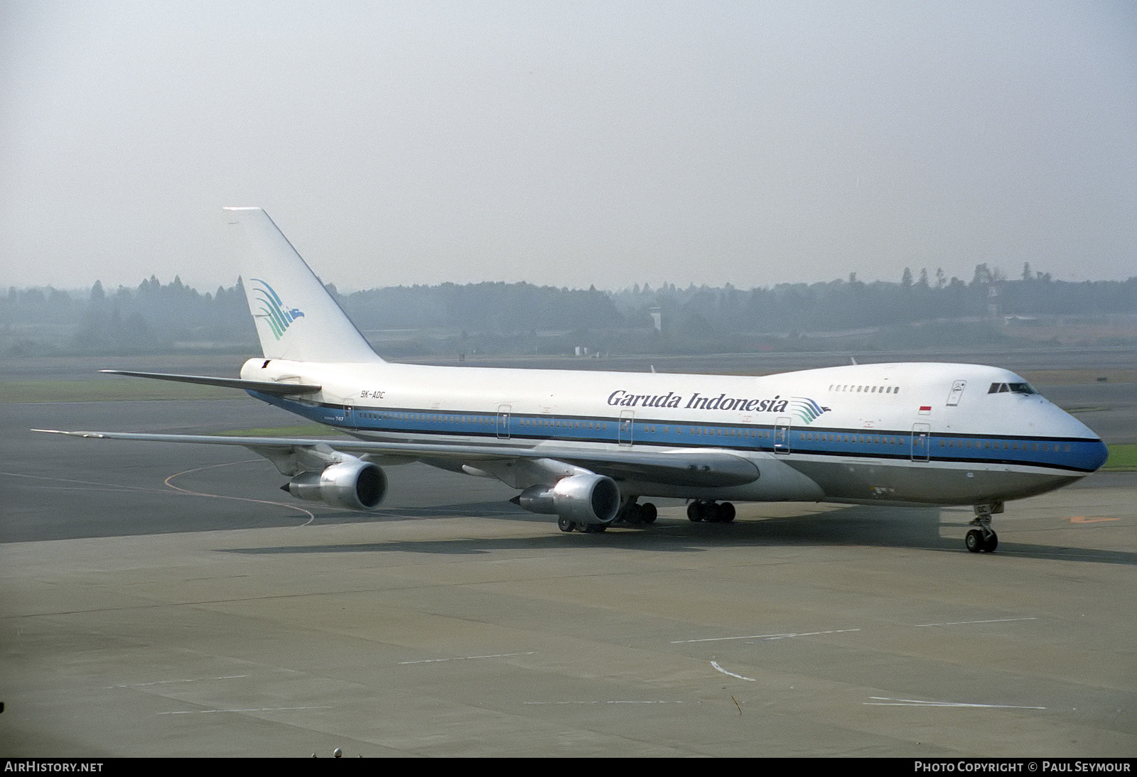
{"label": "long silver near-side wing of the airplane, above the two engines", "polygon": [[65,432],[33,429],[50,434],[93,440],[134,440],[143,442],[200,443],[241,445],[277,461],[293,451],[332,449],[351,454],[388,454],[407,459],[446,459],[476,466],[479,461],[511,459],[549,459],[590,469],[615,479],[636,479],[673,485],[722,487],[753,483],[758,468],[747,459],[716,450],[581,450],[567,445],[467,445],[442,443],[404,443],[371,440],[318,440],[297,437],[243,437],[221,435],[149,434],[136,432]]}

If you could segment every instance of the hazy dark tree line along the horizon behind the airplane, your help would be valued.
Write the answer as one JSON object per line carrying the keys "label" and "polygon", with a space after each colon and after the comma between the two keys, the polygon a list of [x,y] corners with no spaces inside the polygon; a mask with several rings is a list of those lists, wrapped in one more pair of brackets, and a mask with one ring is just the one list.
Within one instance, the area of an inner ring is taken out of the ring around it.
{"label": "hazy dark tree line along the horizon behind the airplane", "polygon": [[[1002,336],[996,324],[1004,317],[1137,314],[1137,277],[1073,283],[1029,265],[1013,279],[978,265],[970,283],[948,279],[940,270],[914,276],[905,269],[899,282],[865,283],[850,274],[828,283],[750,290],[637,284],[603,292],[446,283],[350,294],[330,285],[329,291],[360,331],[380,341],[381,351],[396,357],[557,353],[575,346],[623,353],[746,351],[799,348],[795,340],[806,335],[816,349],[825,342],[818,333],[861,331],[875,332],[872,342],[881,346],[943,343],[945,337],[974,343]],[[150,277],[134,289],[108,291],[96,282],[84,294],[11,287],[0,296],[3,353],[194,350],[257,351],[240,282],[201,293],[176,277],[168,284]]]}

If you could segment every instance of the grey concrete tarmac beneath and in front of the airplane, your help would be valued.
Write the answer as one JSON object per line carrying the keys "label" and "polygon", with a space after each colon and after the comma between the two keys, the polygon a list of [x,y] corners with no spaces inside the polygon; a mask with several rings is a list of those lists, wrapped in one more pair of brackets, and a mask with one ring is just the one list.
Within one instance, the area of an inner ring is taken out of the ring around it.
{"label": "grey concrete tarmac beneath and in front of the airplane", "polygon": [[3,410],[2,755],[1137,752],[1137,474],[1007,504],[994,554],[955,508],[562,534],[420,465],[358,516],[25,432],[296,423],[251,400]]}

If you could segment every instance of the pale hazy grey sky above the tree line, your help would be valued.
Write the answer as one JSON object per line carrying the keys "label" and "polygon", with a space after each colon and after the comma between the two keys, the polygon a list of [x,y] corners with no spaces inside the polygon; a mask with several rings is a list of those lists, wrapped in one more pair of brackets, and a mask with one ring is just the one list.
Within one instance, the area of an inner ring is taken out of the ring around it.
{"label": "pale hazy grey sky above the tree line", "polygon": [[0,3],[0,285],[1137,275],[1137,5]]}

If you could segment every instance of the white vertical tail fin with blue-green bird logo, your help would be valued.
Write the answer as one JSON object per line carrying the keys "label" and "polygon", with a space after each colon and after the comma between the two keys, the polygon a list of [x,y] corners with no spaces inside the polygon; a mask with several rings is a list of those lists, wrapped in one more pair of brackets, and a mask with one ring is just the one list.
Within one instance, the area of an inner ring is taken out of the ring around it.
{"label": "white vertical tail fin with blue-green bird logo", "polygon": [[225,208],[265,358],[382,361],[260,208]]}

